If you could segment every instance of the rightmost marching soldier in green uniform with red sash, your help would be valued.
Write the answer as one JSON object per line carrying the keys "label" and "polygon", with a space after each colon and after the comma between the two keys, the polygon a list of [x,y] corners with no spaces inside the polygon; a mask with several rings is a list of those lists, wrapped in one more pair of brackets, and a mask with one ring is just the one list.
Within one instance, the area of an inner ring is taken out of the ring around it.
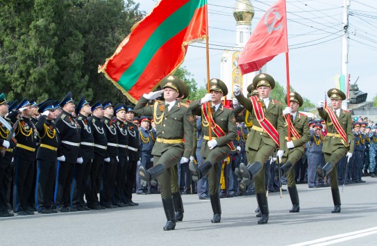
{"label": "rightmost marching soldier in green uniform with red sash", "polygon": [[341,90],[330,89],[327,92],[333,108],[324,108],[324,102],[319,101],[317,109],[319,116],[326,122],[327,135],[324,138],[325,163],[317,169],[320,177],[330,174],[331,194],[333,195],[334,209],[331,213],[340,213],[340,193],[337,185],[337,168],[334,168],[340,159],[346,155],[351,158],[354,149],[351,113],[340,108],[346,95]]}

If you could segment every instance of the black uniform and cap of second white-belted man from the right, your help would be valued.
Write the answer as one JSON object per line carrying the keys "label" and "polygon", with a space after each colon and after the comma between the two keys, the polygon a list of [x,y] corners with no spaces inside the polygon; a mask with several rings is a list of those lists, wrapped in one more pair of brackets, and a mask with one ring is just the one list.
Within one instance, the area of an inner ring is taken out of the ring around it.
{"label": "black uniform and cap of second white-belted man from the right", "polygon": [[[117,104],[114,107],[114,112],[117,114],[120,110],[126,111],[127,106],[125,104]],[[112,197],[112,204],[119,207],[128,206],[122,202],[123,186],[126,180],[128,170],[128,127],[125,122],[115,117],[113,119],[115,129],[117,129],[118,136],[118,153],[119,161],[117,166],[117,175],[115,177],[115,191]]]}

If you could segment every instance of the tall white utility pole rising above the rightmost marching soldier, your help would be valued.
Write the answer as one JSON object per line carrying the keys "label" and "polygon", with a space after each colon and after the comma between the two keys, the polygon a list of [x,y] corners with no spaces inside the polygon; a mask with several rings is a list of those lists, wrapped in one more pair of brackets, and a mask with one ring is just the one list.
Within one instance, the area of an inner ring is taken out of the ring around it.
{"label": "tall white utility pole rising above the rightmost marching soldier", "polygon": [[344,76],[344,90],[347,96],[346,100],[342,102],[342,108],[348,109],[349,104],[349,6],[351,0],[343,0],[343,16],[342,16],[342,75]]}

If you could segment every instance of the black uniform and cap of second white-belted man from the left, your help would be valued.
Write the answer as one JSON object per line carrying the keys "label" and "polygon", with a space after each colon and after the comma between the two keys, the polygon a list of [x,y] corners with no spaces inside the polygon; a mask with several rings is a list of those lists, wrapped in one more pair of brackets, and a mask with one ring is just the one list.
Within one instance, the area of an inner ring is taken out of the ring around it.
{"label": "black uniform and cap of second white-belted man from the left", "polygon": [[72,184],[72,205],[78,210],[89,210],[84,201],[85,189],[87,188],[87,181],[89,178],[90,170],[92,168],[92,160],[94,159],[94,137],[93,129],[85,115],[80,113],[83,106],[88,105],[83,97],[76,106],[76,121],[81,128],[81,142],[78,157],[83,158],[83,163],[76,163],[76,172],[74,183]]}

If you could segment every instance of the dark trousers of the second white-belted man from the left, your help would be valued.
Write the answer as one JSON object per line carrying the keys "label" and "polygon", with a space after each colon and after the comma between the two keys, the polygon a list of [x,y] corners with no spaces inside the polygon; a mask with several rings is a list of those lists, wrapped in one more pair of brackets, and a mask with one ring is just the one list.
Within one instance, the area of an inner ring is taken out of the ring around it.
{"label": "dark trousers of the second white-belted man from the left", "polygon": [[83,158],[83,163],[76,163],[72,182],[72,206],[85,206],[84,194],[87,187],[92,159]]}

